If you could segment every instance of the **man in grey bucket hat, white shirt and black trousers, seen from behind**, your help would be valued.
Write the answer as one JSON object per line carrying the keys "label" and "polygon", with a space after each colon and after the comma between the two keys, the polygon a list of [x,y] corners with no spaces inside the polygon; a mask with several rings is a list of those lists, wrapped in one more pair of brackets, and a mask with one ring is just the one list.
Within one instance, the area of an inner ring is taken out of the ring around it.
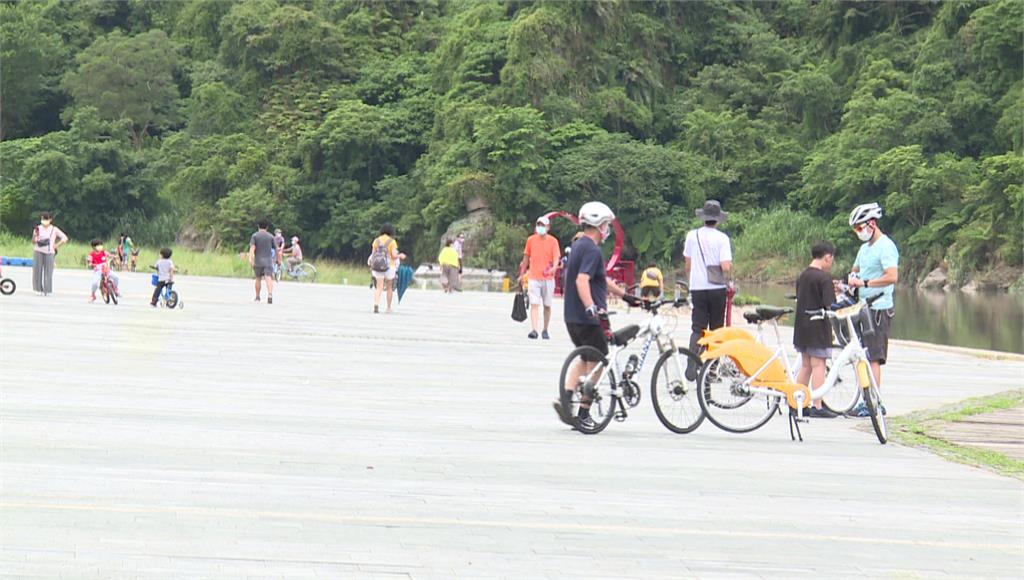
{"label": "man in grey bucket hat, white shirt and black trousers, seen from behind", "polygon": [[[725,325],[726,297],[732,284],[732,247],[729,237],[718,230],[729,214],[722,211],[721,203],[708,200],[696,210],[696,215],[703,226],[686,234],[683,248],[693,306],[690,349],[694,353],[705,329],[714,330]],[[692,364],[687,366],[686,378],[696,379],[697,370]]]}

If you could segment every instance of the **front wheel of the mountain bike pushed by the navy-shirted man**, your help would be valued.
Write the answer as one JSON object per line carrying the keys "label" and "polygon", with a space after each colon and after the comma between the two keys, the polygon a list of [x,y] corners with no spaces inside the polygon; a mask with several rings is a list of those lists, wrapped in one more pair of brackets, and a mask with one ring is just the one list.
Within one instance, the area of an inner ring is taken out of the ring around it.
{"label": "front wheel of the mountain bike pushed by the navy-shirted man", "polygon": [[650,377],[650,399],[654,413],[665,428],[688,433],[700,426],[705,413],[697,402],[697,383],[686,380],[686,365],[700,368],[700,359],[689,348],[667,350],[654,365]]}

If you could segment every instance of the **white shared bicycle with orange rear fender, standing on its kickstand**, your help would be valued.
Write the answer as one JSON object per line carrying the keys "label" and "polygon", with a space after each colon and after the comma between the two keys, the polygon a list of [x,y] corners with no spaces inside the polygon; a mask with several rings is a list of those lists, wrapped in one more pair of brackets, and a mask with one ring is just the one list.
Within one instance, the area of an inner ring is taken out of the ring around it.
{"label": "white shared bicycle with orange rear fender, standing on its kickstand", "polygon": [[[812,401],[823,400],[837,385],[843,369],[853,365],[856,380],[871,418],[879,443],[889,437],[883,415],[882,397],[867,361],[867,350],[860,341],[857,326],[863,335],[874,332],[869,305],[878,297],[838,310],[809,310],[811,320],[831,319],[841,322],[848,332],[846,345],[835,359],[823,384],[813,390],[796,381],[797,369],[791,363],[785,345],[772,351],[753,338],[736,338],[709,345],[701,355],[705,364],[697,379],[697,401],[708,420],[730,432],[750,432],[760,428],[778,411],[779,404],[790,407],[790,436],[803,441],[800,423],[805,422],[804,409]],[[778,320],[793,308],[759,306],[761,322],[770,323],[778,337]]]}

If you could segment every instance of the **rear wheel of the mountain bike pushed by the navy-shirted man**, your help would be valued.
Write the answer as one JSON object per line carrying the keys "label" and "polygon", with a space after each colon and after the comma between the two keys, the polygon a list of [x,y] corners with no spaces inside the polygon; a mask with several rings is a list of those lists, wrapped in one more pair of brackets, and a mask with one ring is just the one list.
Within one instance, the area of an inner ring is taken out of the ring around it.
{"label": "rear wheel of the mountain bike pushed by the navy-shirted man", "polygon": [[[585,365],[591,370],[580,376],[577,384],[567,384],[569,373]],[[587,434],[596,434],[604,430],[615,415],[615,399],[611,396],[611,373],[608,372],[608,360],[600,350],[593,346],[581,346],[569,353],[562,365],[562,374],[558,379],[558,400],[564,401],[563,393],[568,393],[570,401],[566,411],[572,417],[579,417],[580,403],[586,397],[590,399],[590,417],[593,427],[577,425],[577,430]]]}

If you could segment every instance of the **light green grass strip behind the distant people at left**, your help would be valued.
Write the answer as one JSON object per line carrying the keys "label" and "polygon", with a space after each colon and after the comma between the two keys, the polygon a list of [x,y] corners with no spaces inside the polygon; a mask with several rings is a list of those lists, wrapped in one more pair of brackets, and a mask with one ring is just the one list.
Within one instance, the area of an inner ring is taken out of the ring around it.
{"label": "light green grass strip behind the distant people at left", "polygon": [[[108,242],[114,250],[116,241]],[[139,272],[148,272],[148,266],[158,259],[159,248],[140,248]],[[238,254],[219,252],[199,252],[188,248],[172,246],[174,260],[182,276],[222,276],[227,278],[251,278],[252,268],[248,260]],[[84,268],[85,256],[91,251],[88,243],[72,241],[57,253],[57,267]],[[32,257],[32,241],[29,238],[0,234],[0,255],[11,257]],[[316,266],[316,282],[324,284],[370,284],[370,271],[366,266],[333,260],[311,260]]]}

